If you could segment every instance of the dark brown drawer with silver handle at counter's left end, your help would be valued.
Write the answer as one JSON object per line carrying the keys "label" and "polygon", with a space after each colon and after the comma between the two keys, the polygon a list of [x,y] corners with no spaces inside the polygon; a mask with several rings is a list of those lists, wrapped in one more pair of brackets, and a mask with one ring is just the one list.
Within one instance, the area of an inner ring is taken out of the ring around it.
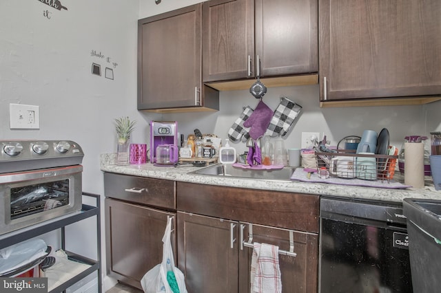
{"label": "dark brown drawer with silver handle at counter's left end", "polygon": [[176,209],[176,182],[131,175],[104,173],[106,197]]}

